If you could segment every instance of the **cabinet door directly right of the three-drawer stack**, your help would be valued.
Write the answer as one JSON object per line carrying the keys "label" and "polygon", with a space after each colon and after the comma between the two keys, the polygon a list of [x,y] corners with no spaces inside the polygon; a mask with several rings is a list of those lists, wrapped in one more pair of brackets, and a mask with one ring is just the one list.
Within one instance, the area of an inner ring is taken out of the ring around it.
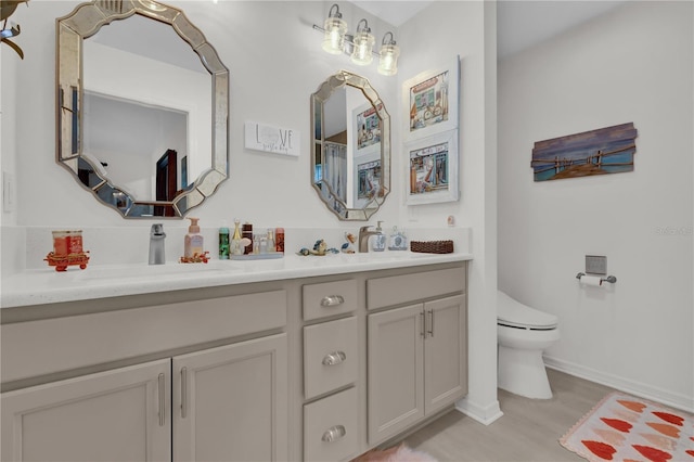
{"label": "cabinet door directly right of the three-drawer stack", "polygon": [[369,316],[369,444],[424,416],[422,304]]}

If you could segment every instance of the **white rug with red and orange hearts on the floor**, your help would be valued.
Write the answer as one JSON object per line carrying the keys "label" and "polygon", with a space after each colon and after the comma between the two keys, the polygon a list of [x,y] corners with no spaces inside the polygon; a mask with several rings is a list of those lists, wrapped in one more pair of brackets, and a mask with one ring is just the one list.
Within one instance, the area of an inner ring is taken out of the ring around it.
{"label": "white rug with red and orange hearts on the floor", "polygon": [[694,462],[694,415],[616,392],[560,442],[589,461]]}

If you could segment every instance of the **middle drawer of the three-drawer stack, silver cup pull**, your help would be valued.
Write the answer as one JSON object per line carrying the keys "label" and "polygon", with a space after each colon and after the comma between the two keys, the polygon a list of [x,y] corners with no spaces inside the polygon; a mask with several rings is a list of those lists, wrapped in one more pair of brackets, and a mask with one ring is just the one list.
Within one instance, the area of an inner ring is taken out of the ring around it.
{"label": "middle drawer of the three-drawer stack, silver cup pull", "polygon": [[304,328],[306,399],[357,381],[357,344],[355,317]]}

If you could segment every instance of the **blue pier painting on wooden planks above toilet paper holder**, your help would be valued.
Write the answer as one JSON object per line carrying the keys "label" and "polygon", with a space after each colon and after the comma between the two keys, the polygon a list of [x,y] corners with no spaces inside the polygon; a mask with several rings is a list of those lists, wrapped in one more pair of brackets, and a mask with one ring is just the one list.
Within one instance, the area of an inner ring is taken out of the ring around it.
{"label": "blue pier painting on wooden planks above toilet paper holder", "polygon": [[638,136],[633,123],[537,141],[535,181],[633,171]]}

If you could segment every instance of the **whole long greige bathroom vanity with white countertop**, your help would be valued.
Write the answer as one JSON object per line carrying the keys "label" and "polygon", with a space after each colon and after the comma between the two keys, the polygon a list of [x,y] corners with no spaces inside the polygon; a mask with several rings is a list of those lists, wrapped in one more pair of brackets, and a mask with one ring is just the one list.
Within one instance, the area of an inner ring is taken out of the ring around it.
{"label": "whole long greige bathroom vanity with white countertop", "polygon": [[17,274],[2,460],[350,460],[466,394],[470,259]]}

